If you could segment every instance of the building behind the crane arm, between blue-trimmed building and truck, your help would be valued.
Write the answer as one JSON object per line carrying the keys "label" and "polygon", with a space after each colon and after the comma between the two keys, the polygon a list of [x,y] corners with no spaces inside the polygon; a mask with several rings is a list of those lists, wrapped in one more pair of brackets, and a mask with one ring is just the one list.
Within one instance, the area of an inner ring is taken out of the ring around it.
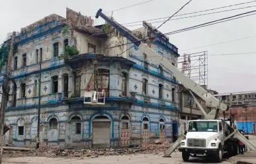
{"label": "building behind the crane arm, between blue-trimmed building and truck", "polygon": [[[210,94],[216,94],[215,90],[207,89],[206,86],[201,86],[207,90]],[[196,100],[200,103],[202,108],[209,113],[211,111],[210,107],[206,106],[205,101],[194,94]],[[179,133],[182,134],[187,130],[188,121],[195,119],[202,119],[202,112],[200,111],[198,105],[195,103],[194,98],[192,97],[189,90],[187,90],[182,84],[179,84]]]}

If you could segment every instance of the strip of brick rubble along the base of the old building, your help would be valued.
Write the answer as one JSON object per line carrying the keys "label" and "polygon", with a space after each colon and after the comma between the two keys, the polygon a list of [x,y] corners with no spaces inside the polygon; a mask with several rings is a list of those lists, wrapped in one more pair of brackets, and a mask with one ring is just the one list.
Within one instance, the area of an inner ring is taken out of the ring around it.
{"label": "strip of brick rubble along the base of the old building", "polygon": [[155,144],[142,144],[141,146],[129,146],[128,148],[83,148],[76,150],[60,150],[59,148],[39,148],[30,151],[4,151],[9,157],[22,157],[22,156],[40,156],[40,157],[91,157],[96,158],[99,155],[130,155],[134,153],[141,154],[160,154],[164,153],[171,144],[166,140],[155,140]]}

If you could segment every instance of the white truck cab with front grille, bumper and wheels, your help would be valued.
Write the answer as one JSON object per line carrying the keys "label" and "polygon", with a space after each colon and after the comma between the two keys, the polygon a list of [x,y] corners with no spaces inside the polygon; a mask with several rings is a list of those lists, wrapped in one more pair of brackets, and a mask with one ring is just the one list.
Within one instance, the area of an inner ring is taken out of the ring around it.
{"label": "white truck cab with front grille, bumper and wheels", "polygon": [[186,138],[181,140],[183,160],[190,156],[206,155],[222,160],[224,144],[224,129],[221,120],[189,121]]}

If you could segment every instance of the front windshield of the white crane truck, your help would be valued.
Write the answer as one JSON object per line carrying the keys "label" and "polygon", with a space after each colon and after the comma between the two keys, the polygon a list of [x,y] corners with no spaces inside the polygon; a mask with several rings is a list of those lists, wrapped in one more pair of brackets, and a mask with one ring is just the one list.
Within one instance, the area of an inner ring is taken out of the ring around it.
{"label": "front windshield of the white crane truck", "polygon": [[189,132],[218,132],[217,121],[191,121]]}

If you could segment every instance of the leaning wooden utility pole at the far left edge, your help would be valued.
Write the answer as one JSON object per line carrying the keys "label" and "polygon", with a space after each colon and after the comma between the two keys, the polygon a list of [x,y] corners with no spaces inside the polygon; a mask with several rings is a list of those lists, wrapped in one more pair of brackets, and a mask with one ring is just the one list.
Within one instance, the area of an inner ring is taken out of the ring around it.
{"label": "leaning wooden utility pole at the far left edge", "polygon": [[[16,38],[16,32],[13,32],[13,36],[11,36],[11,47],[9,50],[9,56],[8,56],[8,61],[6,63],[6,73],[5,73],[5,80],[3,82],[3,94],[2,94],[2,101],[1,101],[1,112],[0,112],[0,164],[2,163],[2,157],[3,157],[3,140],[5,132],[5,107],[7,106],[7,97],[9,96],[9,77],[11,75],[11,61],[13,59],[13,47],[15,43],[15,38]],[[15,91],[16,93],[16,91]]]}

